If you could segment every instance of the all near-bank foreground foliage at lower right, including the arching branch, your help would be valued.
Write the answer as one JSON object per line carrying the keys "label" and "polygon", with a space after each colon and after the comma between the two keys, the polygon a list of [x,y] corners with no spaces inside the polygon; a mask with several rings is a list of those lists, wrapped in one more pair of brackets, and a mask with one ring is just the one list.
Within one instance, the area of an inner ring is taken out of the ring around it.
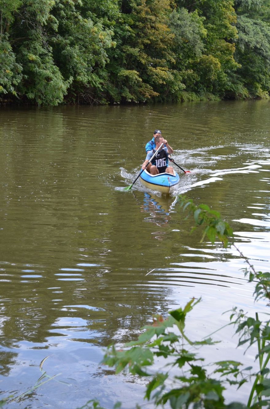
{"label": "all near-bank foreground foliage at lower right, including the arching branch", "polygon": [[[220,214],[206,205],[196,206],[192,200],[182,196],[179,197],[179,202],[184,210],[188,209],[188,216],[194,217],[195,226],[192,230],[203,227],[202,240],[208,237],[214,243],[217,237],[224,247],[228,246],[230,240],[248,263],[245,275],[249,276],[249,281],[256,282],[255,301],[264,299],[269,302],[270,274],[255,271],[249,259],[233,243],[232,229],[221,219]],[[238,346],[246,344],[249,348],[257,345],[255,360],[259,360],[259,371],[251,372],[251,366],[242,369],[242,364],[234,360],[205,364],[204,359],[198,355],[198,349],[204,345],[211,347],[215,342],[210,337],[192,341],[185,333],[186,316],[199,301],[192,299],[183,309],[170,311],[166,319],[155,315],[153,324],[142,328],[144,332],[136,342],[129,342],[124,350],[110,346],[102,362],[114,366],[116,373],[126,370],[133,375],[150,378],[145,398],[153,400],[156,406],[167,403],[173,409],[269,409],[270,319],[261,321],[258,313],[255,317],[248,317],[243,310],[233,308],[228,324],[236,327]],[[164,359],[165,365],[162,369],[154,370],[155,360],[160,357]],[[226,388],[234,385],[239,389],[246,382],[251,382],[247,404],[226,404],[223,395]]]}

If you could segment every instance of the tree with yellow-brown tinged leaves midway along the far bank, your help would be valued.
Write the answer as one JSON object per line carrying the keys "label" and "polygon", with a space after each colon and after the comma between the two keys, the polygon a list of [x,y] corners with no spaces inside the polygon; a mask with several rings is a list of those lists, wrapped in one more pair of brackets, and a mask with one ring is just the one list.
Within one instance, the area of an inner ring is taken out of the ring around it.
{"label": "tree with yellow-brown tinged leaves midway along the far bank", "polygon": [[168,27],[169,0],[125,1],[115,25],[116,50],[109,54],[107,85],[115,101],[145,101],[164,96],[173,82],[170,64],[174,34]]}

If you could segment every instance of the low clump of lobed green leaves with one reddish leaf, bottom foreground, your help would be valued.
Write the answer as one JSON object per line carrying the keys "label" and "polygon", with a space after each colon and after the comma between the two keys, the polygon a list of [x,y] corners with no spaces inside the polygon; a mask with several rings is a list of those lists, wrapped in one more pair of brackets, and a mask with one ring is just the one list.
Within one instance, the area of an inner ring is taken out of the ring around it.
{"label": "low clump of lobed green leaves with one reddish leaf, bottom foreground", "polygon": [[[132,374],[150,377],[145,398],[153,399],[156,406],[168,402],[173,409],[193,405],[198,408],[227,407],[223,396],[224,385],[228,382],[243,383],[241,364],[235,361],[212,364],[213,374],[218,373],[220,380],[207,374],[206,366],[202,366],[204,359],[197,355],[197,349],[202,345],[211,346],[215,343],[211,338],[191,341],[185,334],[187,314],[198,302],[200,300],[192,299],[183,309],[170,311],[166,319],[156,315],[153,325],[144,327],[145,332],[137,342],[126,344],[126,347],[131,348],[117,351],[114,347],[109,347],[102,362],[115,366],[116,373],[128,369]],[[155,357],[160,356],[168,358],[168,363],[163,370],[155,372],[153,363]]]}

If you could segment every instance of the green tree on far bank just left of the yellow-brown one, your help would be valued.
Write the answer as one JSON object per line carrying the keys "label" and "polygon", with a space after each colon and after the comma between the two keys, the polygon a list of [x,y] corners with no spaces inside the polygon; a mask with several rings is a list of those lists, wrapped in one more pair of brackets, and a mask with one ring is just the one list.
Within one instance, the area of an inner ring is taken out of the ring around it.
{"label": "green tree on far bank just left of the yellow-brown one", "polygon": [[[85,17],[81,13],[85,14]],[[70,96],[85,89],[102,89],[106,78],[104,67],[108,62],[106,49],[113,47],[112,31],[104,29],[100,20],[94,22],[80,3],[59,0],[54,13],[59,21],[58,35],[54,38],[53,56],[66,80],[72,76]],[[72,97],[71,97],[72,99]]]}

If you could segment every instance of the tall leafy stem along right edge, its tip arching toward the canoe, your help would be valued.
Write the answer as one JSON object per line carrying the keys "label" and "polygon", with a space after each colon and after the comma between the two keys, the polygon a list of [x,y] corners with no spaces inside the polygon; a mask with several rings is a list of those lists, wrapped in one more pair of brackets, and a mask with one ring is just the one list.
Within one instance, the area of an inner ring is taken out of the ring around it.
{"label": "tall leafy stem along right edge, its tip arching toward the canoe", "polygon": [[[211,243],[215,242],[215,238],[218,237],[223,243],[224,247],[227,247],[228,240],[230,238],[231,245],[237,250],[240,256],[248,264],[248,267],[243,269],[245,277],[248,276],[248,281],[255,281],[255,289],[253,296],[255,301],[264,299],[270,301],[270,273],[256,271],[254,266],[250,263],[248,257],[246,257],[241,250],[233,243],[233,232],[228,223],[224,222],[220,218],[220,214],[211,210],[207,205],[194,205],[193,201],[187,199],[185,196],[179,196],[180,206],[185,210],[188,207],[189,213],[187,218],[193,214],[195,220],[195,228],[206,225],[203,231],[203,237],[207,236]],[[267,314],[269,315],[269,314]],[[253,404],[258,402],[259,406],[270,406],[268,399],[262,400],[262,396],[270,396],[270,379],[268,378],[270,369],[267,367],[270,360],[270,319],[266,321],[260,321],[259,315],[256,312],[255,318],[248,317],[243,310],[232,309],[230,316],[231,324],[236,327],[236,334],[239,335],[238,346],[248,344],[248,348],[257,344],[258,353],[255,359],[259,358],[259,371],[252,374],[253,380],[250,396],[248,398],[247,406],[250,407],[252,400]]]}

